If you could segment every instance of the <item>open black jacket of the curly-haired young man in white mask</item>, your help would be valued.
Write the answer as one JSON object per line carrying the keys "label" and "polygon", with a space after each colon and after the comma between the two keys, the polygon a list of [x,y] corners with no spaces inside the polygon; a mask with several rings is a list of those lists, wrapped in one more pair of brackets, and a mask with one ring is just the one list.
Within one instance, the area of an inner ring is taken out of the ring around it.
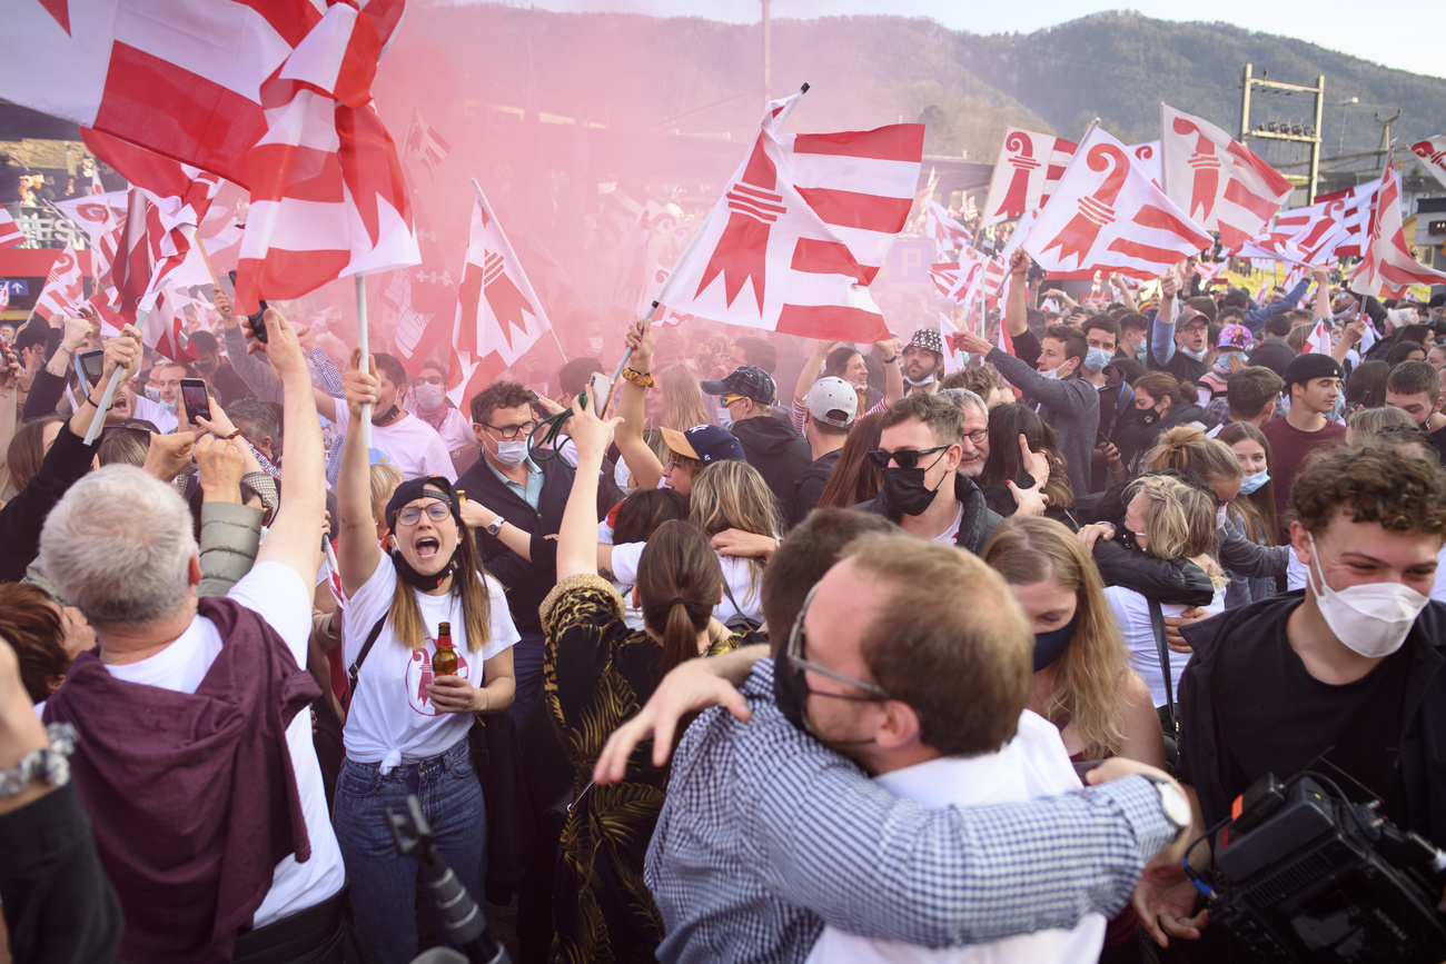
{"label": "open black jacket of the curly-haired young man in white mask", "polygon": [[[1252,626],[1274,623],[1303,597],[1304,590],[1284,593],[1180,627],[1194,649],[1180,678],[1180,757],[1189,767],[1186,779],[1200,796],[1206,822],[1231,812],[1226,788],[1241,778],[1248,782],[1259,776],[1236,772],[1216,694],[1225,692],[1235,673],[1249,672],[1252,650],[1287,645],[1284,637],[1261,640]],[[1446,604],[1427,603],[1403,647],[1411,652],[1398,757],[1406,789],[1404,822],[1442,847],[1446,845],[1446,672],[1442,671],[1446,666]]]}

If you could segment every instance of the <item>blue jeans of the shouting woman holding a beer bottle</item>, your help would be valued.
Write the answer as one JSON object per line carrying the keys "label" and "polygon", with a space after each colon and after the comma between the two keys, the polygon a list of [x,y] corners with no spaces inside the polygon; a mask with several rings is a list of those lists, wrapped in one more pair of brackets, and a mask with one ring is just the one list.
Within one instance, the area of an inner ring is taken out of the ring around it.
{"label": "blue jeans of the shouting woman holding a beer bottle", "polygon": [[377,964],[408,964],[416,955],[416,858],[396,854],[386,822],[388,806],[406,812],[408,793],[421,801],[442,858],[482,900],[487,818],[467,740],[386,776],[376,763],[344,760],[331,822],[351,882],[357,932]]}

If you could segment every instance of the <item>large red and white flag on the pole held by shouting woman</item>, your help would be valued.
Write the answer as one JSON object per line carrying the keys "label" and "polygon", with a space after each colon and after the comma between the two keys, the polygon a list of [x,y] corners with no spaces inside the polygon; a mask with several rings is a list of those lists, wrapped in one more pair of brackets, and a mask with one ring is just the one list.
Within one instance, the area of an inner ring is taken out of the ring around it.
{"label": "large red and white flag on the pole held by shouting woman", "polygon": [[402,165],[370,90],[401,12],[402,0],[334,3],[262,85],[268,126],[247,158],[237,311],[421,260]]}

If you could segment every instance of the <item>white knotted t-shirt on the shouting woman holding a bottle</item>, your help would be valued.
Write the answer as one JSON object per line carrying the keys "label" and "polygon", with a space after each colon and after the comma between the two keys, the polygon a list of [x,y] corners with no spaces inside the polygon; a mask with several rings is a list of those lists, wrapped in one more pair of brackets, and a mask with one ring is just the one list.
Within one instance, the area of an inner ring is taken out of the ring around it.
{"label": "white knotted t-shirt on the shouting woman holding a bottle", "polygon": [[[487,643],[477,652],[467,649],[467,627],[457,593],[416,593],[427,629],[421,649],[414,650],[398,642],[390,619],[382,624],[382,633],[357,673],[357,689],[347,710],[343,743],[348,760],[380,763],[382,772],[389,773],[401,763],[434,757],[467,736],[471,714],[438,711],[427,697],[427,685],[432,681],[438,623],[451,623],[457,675],[466,676],[474,687],[482,685],[482,663],[518,642],[518,627],[512,623],[502,584],[490,575],[483,578],[492,619]],[[347,666],[356,662],[372,627],[392,607],[395,591],[396,567],[383,555],[372,578],[351,594],[343,611],[341,652]]]}

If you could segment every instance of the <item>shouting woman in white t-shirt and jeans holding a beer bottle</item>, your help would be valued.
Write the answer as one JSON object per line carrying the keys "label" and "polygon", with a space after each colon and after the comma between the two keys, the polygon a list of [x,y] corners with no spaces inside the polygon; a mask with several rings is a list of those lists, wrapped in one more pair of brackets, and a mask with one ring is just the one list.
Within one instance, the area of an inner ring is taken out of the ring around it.
{"label": "shouting woman in white t-shirt and jeans holding a beer bottle", "polygon": [[[348,413],[360,425],[362,405],[377,399],[377,379],[353,367],[344,382]],[[486,814],[467,731],[474,714],[512,704],[518,630],[500,584],[483,572],[445,478],[398,486],[377,546],[360,435],[347,434],[337,483],[341,645],[347,665],[360,666],[333,824],[357,929],[379,964],[405,964],[416,954],[416,861],[396,854],[386,808],[406,812],[406,796],[415,793],[442,857],[463,886],[482,893]],[[432,672],[441,623],[450,624],[457,655],[453,675]]]}

